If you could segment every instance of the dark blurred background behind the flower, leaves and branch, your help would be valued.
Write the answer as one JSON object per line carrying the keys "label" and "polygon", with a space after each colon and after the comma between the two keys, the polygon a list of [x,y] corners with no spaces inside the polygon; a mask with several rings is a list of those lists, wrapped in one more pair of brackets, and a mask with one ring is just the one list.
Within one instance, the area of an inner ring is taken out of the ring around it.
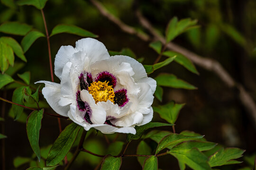
{"label": "dark blurred background behind the flower, leaves and branch", "polygon": [[[256,0],[101,0],[114,16],[120,18],[129,26],[143,30],[149,34],[138,22],[135,5],[152,25],[162,34],[169,20],[177,16],[179,19],[190,17],[198,19],[201,26],[178,36],[174,42],[203,57],[216,59],[256,101]],[[17,12],[18,11],[18,12]],[[157,54],[148,47],[150,42],[144,42],[136,35],[130,35],[120,30],[111,21],[101,16],[88,0],[48,0],[44,8],[48,30],[57,24],[73,24],[94,34],[110,51],[121,51],[122,48],[131,49],[137,58],[144,58],[143,64],[153,64]],[[45,33],[41,12],[32,6],[20,6],[18,10],[11,10],[0,6],[0,23],[4,21],[20,21],[34,26]],[[4,34],[0,33],[0,36]],[[18,42],[21,36],[13,36]],[[62,45],[75,45],[81,37],[72,34],[57,34],[51,37],[52,55],[55,56]],[[38,39],[26,53],[27,64],[19,73],[30,70],[31,82],[50,80],[48,51],[45,38]],[[18,58],[16,58],[18,60]],[[54,57],[53,57],[54,61]],[[205,135],[208,141],[225,147],[239,147],[245,149],[245,156],[256,154],[256,122],[238,99],[238,90],[229,88],[213,72],[196,66],[200,75],[195,75],[181,65],[171,63],[168,67],[155,71],[151,77],[160,72],[173,73],[177,77],[198,87],[197,90],[183,90],[164,88],[163,104],[174,100],[186,103],[176,122],[176,132],[183,130],[195,131]],[[16,77],[18,79],[18,77]],[[55,76],[55,82],[59,82]],[[7,91],[7,99],[11,100],[12,89]],[[0,92],[1,96],[4,92]],[[40,96],[42,101],[43,96]],[[154,105],[160,102],[155,99]],[[42,102],[48,112],[46,102]],[[2,105],[3,106],[3,105]],[[6,114],[10,108],[6,104]],[[29,114],[29,110],[25,110]],[[6,116],[6,167],[7,170],[26,169],[29,163],[15,168],[13,161],[16,157],[31,157],[33,154],[27,140],[26,115],[23,120],[13,121]],[[153,121],[162,121],[157,113]],[[66,126],[70,121],[62,121]],[[161,128],[160,128],[161,129]],[[163,128],[165,130],[171,130]],[[58,136],[57,119],[45,116],[42,120],[40,132],[40,146],[53,144]],[[115,135],[108,135],[113,139]],[[104,154],[107,143],[101,133],[95,130],[87,138],[86,148],[99,154]],[[125,141],[125,135],[120,134],[118,140]],[[148,141],[153,147],[155,143]],[[128,147],[127,153],[136,153],[137,143]],[[73,150],[72,150],[73,151]],[[36,158],[35,158],[36,160]],[[220,169],[233,170],[247,166],[248,161],[235,166],[224,166]],[[73,170],[93,170],[101,161],[86,153],[79,155],[73,164]],[[161,157],[159,168],[163,170],[178,170],[177,161],[171,156]],[[57,169],[61,169],[57,168]],[[124,158],[121,170],[141,169],[136,158]]]}

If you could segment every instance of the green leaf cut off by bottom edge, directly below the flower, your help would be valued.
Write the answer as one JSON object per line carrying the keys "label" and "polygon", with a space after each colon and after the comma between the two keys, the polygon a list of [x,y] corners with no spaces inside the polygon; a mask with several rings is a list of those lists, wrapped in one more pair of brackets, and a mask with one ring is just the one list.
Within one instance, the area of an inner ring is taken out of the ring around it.
{"label": "green leaf cut off by bottom edge, directly below the flower", "polygon": [[111,155],[107,155],[104,158],[104,161],[101,164],[101,170],[119,170],[122,164],[121,157],[113,157]]}

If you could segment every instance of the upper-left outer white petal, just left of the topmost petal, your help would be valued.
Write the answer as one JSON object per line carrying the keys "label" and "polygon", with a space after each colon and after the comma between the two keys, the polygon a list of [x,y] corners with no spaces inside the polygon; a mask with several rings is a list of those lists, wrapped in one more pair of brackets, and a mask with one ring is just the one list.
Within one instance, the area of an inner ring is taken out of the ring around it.
{"label": "upper-left outer white petal, just left of the topmost petal", "polygon": [[71,45],[61,46],[56,54],[54,61],[54,72],[61,79],[62,69],[64,65],[72,58],[73,53],[77,52]]}

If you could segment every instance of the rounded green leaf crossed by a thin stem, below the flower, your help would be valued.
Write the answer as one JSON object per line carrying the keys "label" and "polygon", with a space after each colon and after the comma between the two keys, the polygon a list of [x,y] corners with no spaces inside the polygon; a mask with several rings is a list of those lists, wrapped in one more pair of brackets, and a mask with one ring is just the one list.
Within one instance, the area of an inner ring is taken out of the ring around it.
{"label": "rounded green leaf crossed by a thin stem, below the flower", "polygon": [[[146,144],[146,142],[144,141],[140,141],[140,143],[137,146],[137,154],[151,155],[151,152],[151,148],[148,146],[148,144]],[[139,164],[143,167],[146,157],[137,156],[137,160]]]}

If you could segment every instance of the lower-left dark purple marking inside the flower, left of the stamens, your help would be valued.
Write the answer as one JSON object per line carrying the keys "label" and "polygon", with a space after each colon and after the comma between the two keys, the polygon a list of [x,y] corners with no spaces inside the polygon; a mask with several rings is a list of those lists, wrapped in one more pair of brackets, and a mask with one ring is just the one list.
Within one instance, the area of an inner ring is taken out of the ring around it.
{"label": "lower-left dark purple marking inside the flower, left of the stamens", "polygon": [[80,91],[76,92],[76,102],[77,102],[78,109],[82,112],[85,112],[83,119],[87,123],[92,124],[91,119],[90,119],[91,112],[92,112],[91,107],[88,102],[82,101],[82,99],[80,97]]}

